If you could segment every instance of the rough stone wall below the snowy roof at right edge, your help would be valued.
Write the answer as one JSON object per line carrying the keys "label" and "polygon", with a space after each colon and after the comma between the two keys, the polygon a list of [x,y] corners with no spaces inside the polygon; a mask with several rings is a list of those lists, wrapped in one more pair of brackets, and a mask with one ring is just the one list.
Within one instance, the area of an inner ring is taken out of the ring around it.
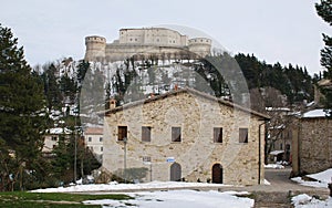
{"label": "rough stone wall below the snowy roof at right edge", "polygon": [[332,121],[301,118],[299,134],[300,173],[313,174],[332,167]]}

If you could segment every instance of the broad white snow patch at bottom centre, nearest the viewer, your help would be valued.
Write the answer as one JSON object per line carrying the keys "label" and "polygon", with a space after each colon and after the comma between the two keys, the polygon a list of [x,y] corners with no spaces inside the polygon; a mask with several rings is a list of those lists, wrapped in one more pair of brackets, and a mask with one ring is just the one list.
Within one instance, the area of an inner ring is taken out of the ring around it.
{"label": "broad white snow patch at bottom centre, nearest the viewer", "polygon": [[142,208],[169,208],[169,207],[190,207],[190,208],[217,208],[232,207],[246,208],[253,207],[253,199],[238,197],[248,193],[218,193],[218,191],[196,191],[196,190],[169,190],[154,193],[128,194],[135,199],[129,200],[86,200],[86,205],[103,205],[103,207],[142,207]]}

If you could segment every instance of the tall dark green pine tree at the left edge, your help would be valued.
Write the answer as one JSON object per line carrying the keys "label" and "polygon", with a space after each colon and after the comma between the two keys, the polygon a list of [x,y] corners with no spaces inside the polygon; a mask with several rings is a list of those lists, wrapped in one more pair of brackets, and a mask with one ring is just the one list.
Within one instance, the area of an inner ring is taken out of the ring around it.
{"label": "tall dark green pine tree at the left edge", "polygon": [[40,76],[32,73],[11,30],[0,24],[0,190],[23,189],[24,170],[35,170],[43,107]]}

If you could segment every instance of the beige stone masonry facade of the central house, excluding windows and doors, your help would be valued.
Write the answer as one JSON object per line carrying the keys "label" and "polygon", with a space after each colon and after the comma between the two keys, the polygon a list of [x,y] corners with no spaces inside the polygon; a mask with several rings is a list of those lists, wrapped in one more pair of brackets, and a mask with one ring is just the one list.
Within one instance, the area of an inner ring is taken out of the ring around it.
{"label": "beige stone masonry facade of the central house, excluding windows and doors", "polygon": [[[173,157],[188,181],[211,179],[214,164],[221,164],[224,184],[258,184],[258,134],[260,117],[184,92],[111,113],[106,117],[103,166],[115,173],[124,168],[124,143],[117,126],[127,126],[126,166],[152,167],[145,181],[170,178]],[[152,141],[142,142],[142,126],[152,127]],[[181,127],[181,142],[172,142],[172,127]],[[214,127],[222,127],[222,143],[214,143]],[[239,143],[239,127],[249,128],[249,142]],[[261,129],[264,129],[263,127]],[[263,132],[261,132],[261,181],[263,180]],[[152,166],[143,157],[152,158]]]}

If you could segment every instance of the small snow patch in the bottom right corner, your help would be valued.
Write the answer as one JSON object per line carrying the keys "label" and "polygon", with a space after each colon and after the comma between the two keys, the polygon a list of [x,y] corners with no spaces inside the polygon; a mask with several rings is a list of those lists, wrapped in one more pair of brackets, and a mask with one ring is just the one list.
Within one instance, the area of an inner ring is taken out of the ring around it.
{"label": "small snow patch in the bottom right corner", "polygon": [[326,200],[319,200],[303,194],[294,196],[292,198],[292,204],[295,208],[325,208],[332,207],[332,198],[330,197]]}

